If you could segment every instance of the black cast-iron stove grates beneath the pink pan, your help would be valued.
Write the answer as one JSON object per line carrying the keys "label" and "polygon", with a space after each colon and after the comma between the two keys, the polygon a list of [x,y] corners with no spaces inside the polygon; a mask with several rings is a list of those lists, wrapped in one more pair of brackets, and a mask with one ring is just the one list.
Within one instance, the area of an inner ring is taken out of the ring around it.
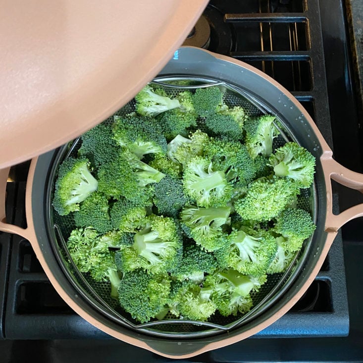
{"label": "black cast-iron stove grates beneath the pink pan", "polygon": [[[204,15],[210,25],[208,49],[246,61],[275,78],[306,107],[332,147],[319,2],[212,0]],[[8,183],[8,190],[13,193],[8,193],[8,207],[15,207],[13,222],[17,225],[24,223],[24,170],[27,166],[22,164],[13,168],[16,182]],[[335,208],[338,209],[337,204]],[[29,242],[19,236],[11,237],[10,256],[9,239],[7,234],[0,235],[0,272],[8,270],[6,310],[0,321],[4,337],[107,337],[59,298]],[[0,280],[0,291],[5,281]],[[4,302],[5,298],[2,304]],[[255,337],[345,336],[348,331],[349,313],[339,233],[304,297],[290,312]]]}

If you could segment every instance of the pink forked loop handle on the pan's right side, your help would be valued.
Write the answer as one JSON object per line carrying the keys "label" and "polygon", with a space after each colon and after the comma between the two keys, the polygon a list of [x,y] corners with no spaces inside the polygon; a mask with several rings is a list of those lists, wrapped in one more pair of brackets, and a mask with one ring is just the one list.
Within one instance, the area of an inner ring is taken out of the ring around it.
{"label": "pink forked loop handle on the pan's right side", "polygon": [[327,186],[327,214],[325,222],[326,232],[337,232],[338,229],[358,217],[363,217],[363,204],[348,208],[339,214],[333,214],[332,211],[332,189],[330,179],[344,185],[348,188],[355,189],[363,193],[363,174],[349,170],[333,159],[332,151],[326,151],[320,157],[321,165],[324,170],[325,183]]}

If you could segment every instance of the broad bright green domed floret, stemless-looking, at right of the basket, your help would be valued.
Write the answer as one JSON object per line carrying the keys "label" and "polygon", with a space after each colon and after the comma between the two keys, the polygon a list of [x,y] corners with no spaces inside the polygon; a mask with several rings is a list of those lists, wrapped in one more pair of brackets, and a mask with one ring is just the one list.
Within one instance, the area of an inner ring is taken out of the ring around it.
{"label": "broad bright green domed floret, stemless-looking, at right of the basket", "polygon": [[249,185],[244,197],[235,202],[235,209],[243,219],[268,221],[277,216],[299,193],[287,179],[260,178]]}

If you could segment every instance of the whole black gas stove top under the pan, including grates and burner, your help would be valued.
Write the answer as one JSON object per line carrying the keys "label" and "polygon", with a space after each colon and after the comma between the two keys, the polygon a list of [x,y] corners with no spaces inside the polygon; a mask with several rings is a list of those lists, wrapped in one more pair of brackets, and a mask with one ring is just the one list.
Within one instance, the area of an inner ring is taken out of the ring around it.
{"label": "whole black gas stove top under the pan, including grates and burner", "polygon": [[[185,44],[245,61],[281,83],[311,114],[336,160],[362,172],[359,122],[342,1],[211,0]],[[29,162],[13,167],[7,184],[8,221],[23,227],[26,226],[24,196],[28,167]],[[344,188],[333,187],[335,212],[357,203],[358,197]],[[356,229],[361,226],[362,221],[351,222],[343,229],[343,235],[338,233],[311,287],[286,315],[246,341],[193,360],[285,362],[308,357],[299,356],[297,352],[311,347],[314,341],[337,339],[336,343],[349,344],[350,337],[337,338],[352,334],[346,286],[353,283],[349,280],[352,272],[348,256],[354,254],[351,249],[343,254],[343,246],[356,239]],[[150,362],[151,357],[153,361],[158,360],[149,352],[105,339],[106,334],[71,311],[52,288],[30,243],[5,233],[0,234],[0,294],[0,335],[5,345],[35,339],[42,340],[38,344],[57,347],[61,352],[81,344],[90,352],[93,352],[92,347],[98,346],[136,354],[140,362]],[[306,339],[296,339],[302,337]],[[316,340],[308,339],[312,337]],[[73,340],[75,338],[77,340]],[[63,344],[68,349],[63,348]],[[282,347],[291,350],[290,353],[278,353]],[[337,349],[337,344],[333,348]],[[265,354],[267,351],[270,356]],[[248,358],[242,352],[248,352]],[[325,357],[332,352],[326,351]],[[92,357],[89,362],[93,362]],[[337,357],[335,354],[326,361]],[[314,361],[314,357],[306,361]]]}

